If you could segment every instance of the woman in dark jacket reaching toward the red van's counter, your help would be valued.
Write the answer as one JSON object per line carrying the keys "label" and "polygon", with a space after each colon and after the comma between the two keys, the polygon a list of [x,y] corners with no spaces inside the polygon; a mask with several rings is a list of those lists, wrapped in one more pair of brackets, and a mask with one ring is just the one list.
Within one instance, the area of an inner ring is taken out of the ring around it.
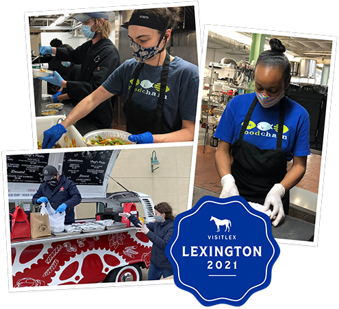
{"label": "woman in dark jacket reaching toward the red van's counter", "polygon": [[153,242],[151,251],[151,264],[149,266],[148,279],[158,280],[160,277],[169,277],[173,275],[173,267],[167,260],[165,248],[173,235],[173,216],[172,207],[168,203],[155,205],[155,222],[149,222],[146,225],[138,220],[133,214],[123,212],[119,216],[128,218],[136,229],[145,233],[147,238]]}

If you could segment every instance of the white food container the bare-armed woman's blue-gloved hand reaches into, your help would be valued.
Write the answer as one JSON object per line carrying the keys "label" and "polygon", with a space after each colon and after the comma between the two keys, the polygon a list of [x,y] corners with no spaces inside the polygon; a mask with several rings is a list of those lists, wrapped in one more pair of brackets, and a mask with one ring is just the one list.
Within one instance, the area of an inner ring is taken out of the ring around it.
{"label": "white food container the bare-armed woman's blue-gloved hand reaches into", "polygon": [[[36,117],[36,135],[41,144],[44,139],[44,131],[57,124],[60,118],[65,119],[66,116]],[[67,132],[62,135],[57,143],[60,144],[62,148],[85,147],[81,134],[73,125],[68,126]]]}

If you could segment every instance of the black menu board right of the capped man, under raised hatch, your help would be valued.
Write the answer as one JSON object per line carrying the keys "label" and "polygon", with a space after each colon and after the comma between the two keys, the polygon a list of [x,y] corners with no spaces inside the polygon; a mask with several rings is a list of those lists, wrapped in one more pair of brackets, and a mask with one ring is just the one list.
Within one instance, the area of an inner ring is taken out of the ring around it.
{"label": "black menu board right of the capped man, under raised hatch", "polygon": [[76,185],[102,185],[112,151],[65,152],[62,174]]}

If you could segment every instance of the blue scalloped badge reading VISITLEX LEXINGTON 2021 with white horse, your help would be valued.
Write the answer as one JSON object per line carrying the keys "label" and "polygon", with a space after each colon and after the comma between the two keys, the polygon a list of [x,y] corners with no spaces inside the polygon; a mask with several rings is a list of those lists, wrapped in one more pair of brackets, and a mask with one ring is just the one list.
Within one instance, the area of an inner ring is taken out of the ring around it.
{"label": "blue scalloped badge reading VISITLEX LEXINGTON 2021 with white horse", "polygon": [[271,283],[279,256],[271,220],[244,198],[204,196],[175,218],[166,246],[175,284],[204,306],[241,306]]}

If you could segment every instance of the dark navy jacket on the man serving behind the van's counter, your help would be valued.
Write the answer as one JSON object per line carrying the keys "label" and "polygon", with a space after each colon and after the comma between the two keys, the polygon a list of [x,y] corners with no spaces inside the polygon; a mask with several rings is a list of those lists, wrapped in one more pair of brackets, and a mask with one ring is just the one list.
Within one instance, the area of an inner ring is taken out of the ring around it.
{"label": "dark navy jacket on the man serving behind the van's counter", "polygon": [[60,175],[59,184],[55,189],[44,181],[32,198],[33,205],[37,204],[37,200],[41,196],[47,197],[51,207],[55,210],[62,203],[65,203],[67,205],[65,225],[75,222],[74,207],[81,202],[81,194],[73,181],[66,179],[64,175]]}

